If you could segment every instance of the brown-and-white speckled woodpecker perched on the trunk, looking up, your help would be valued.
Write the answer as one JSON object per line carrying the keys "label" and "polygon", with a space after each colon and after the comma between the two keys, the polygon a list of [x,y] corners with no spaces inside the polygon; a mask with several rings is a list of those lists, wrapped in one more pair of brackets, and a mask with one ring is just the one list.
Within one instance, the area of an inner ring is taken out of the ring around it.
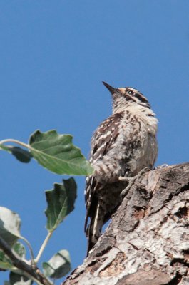
{"label": "brown-and-white speckled woodpecker perched on the trunk, looking up", "polygon": [[[93,174],[86,177],[88,253],[101,236],[103,224],[121,204],[128,180],[141,170],[153,169],[158,155],[158,119],[145,96],[132,87],[113,88],[112,115],[98,126],[91,139]],[[89,222],[88,222],[88,219]]]}

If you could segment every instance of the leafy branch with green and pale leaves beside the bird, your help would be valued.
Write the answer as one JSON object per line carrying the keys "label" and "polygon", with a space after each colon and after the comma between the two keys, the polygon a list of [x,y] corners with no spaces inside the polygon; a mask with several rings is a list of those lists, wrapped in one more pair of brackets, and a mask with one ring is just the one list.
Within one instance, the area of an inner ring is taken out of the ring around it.
{"label": "leafy branch with green and pale leaves beside the bird", "polygon": [[[14,143],[15,147],[6,145]],[[22,147],[26,148],[23,149]],[[29,144],[19,140],[6,139],[0,141],[0,150],[5,150],[21,162],[28,163],[34,158],[47,170],[65,175],[90,175],[93,167],[81,154],[81,150],[72,144],[71,135],[59,135],[56,130],[41,133],[36,130],[30,138]],[[27,239],[21,236],[21,219],[10,209],[0,207],[0,269],[11,271],[10,283],[51,285],[48,278],[58,279],[71,269],[71,259],[65,249],[61,249],[53,257],[42,264],[42,273],[37,264],[48,244],[53,232],[63,219],[74,209],[76,200],[76,182],[73,177],[63,180],[61,184],[54,183],[53,190],[46,190],[47,208],[46,239],[41,244],[39,253],[34,258],[34,252]],[[26,260],[26,249],[18,240],[24,240],[29,247],[31,261]]]}

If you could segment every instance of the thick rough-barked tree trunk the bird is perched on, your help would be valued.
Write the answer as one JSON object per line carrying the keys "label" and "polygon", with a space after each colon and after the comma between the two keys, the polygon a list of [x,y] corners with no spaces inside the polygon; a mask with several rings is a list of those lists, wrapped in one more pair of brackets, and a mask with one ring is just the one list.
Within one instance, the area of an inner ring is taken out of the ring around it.
{"label": "thick rough-barked tree trunk the bird is perched on", "polygon": [[189,163],[128,190],[106,232],[64,285],[188,285]]}

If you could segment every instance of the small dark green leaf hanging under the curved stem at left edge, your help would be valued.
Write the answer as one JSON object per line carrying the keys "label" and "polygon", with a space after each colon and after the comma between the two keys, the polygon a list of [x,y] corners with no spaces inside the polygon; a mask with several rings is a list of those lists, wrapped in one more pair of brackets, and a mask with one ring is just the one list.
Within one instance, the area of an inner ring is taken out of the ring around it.
{"label": "small dark green leaf hanging under the curved stem at left edge", "polygon": [[0,145],[2,150],[10,152],[17,160],[28,163],[31,160],[31,153],[28,150],[23,150],[21,147],[13,147],[11,145]]}

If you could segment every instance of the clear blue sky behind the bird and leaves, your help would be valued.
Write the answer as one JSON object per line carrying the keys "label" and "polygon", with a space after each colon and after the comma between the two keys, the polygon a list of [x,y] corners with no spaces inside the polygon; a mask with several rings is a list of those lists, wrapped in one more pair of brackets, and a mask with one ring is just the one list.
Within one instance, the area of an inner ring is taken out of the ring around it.
{"label": "clear blue sky behind the bird and leaves", "polygon": [[[87,157],[93,131],[111,114],[106,81],[150,101],[159,120],[156,165],[188,161],[188,11],[187,0],[0,1],[0,139],[27,142],[36,129],[56,129]],[[46,237],[44,190],[62,177],[0,155],[1,206],[19,213],[37,254]],[[76,182],[76,210],[41,259],[68,249],[73,269],[86,255],[84,177]]]}

